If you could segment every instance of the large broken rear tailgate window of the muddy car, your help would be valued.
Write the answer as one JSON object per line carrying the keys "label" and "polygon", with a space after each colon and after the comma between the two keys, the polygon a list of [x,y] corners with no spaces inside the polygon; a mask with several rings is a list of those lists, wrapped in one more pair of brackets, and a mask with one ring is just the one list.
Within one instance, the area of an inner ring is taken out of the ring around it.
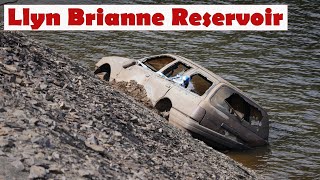
{"label": "large broken rear tailgate window of the muddy car", "polygon": [[259,125],[262,119],[262,113],[258,108],[236,91],[226,86],[222,86],[215,93],[211,98],[211,104],[252,125]]}

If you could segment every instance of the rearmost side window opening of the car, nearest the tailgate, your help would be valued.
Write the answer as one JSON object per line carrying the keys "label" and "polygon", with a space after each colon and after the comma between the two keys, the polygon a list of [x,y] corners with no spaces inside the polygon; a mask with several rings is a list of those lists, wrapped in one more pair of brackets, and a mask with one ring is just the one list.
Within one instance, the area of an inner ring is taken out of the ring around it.
{"label": "rearmost side window opening of the car, nearest the tailgate", "polygon": [[191,76],[190,83],[187,87],[191,92],[202,96],[211,86],[212,82],[201,74],[194,74]]}

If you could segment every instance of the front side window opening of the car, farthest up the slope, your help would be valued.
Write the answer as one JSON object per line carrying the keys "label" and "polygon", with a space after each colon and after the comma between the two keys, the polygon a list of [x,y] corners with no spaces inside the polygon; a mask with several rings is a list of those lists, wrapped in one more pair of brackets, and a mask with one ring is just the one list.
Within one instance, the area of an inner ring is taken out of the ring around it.
{"label": "front side window opening of the car, farthest up the slope", "polygon": [[152,71],[157,72],[167,64],[173,62],[175,59],[169,56],[158,56],[150,58],[143,62]]}

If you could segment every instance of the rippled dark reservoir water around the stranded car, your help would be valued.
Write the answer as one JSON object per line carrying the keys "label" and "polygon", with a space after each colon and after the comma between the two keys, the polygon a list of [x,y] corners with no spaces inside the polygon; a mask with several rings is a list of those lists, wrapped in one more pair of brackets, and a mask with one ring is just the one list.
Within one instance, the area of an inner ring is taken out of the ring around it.
{"label": "rippled dark reservoir water around the stranded car", "polygon": [[[23,1],[24,4],[44,2],[71,3],[68,0]],[[77,4],[90,2],[74,1]],[[189,3],[209,4],[208,1]],[[222,1],[211,4],[218,3],[225,4]],[[290,3],[273,1],[272,4],[279,3],[289,5],[289,31],[27,34],[90,67],[101,57],[110,55],[141,58],[173,53],[192,59],[245,91],[270,115],[270,146],[249,152],[226,152],[229,156],[266,178],[319,179],[320,2],[296,0]],[[270,2],[259,1],[259,4]]]}

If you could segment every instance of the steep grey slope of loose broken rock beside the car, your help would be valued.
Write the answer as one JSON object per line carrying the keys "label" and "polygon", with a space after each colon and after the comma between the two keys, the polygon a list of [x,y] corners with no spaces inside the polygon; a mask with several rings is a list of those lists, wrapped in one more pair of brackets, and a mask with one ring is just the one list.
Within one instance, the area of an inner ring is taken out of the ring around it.
{"label": "steep grey slope of loose broken rock beside the car", "polygon": [[3,31],[0,166],[0,179],[257,178],[87,68]]}

